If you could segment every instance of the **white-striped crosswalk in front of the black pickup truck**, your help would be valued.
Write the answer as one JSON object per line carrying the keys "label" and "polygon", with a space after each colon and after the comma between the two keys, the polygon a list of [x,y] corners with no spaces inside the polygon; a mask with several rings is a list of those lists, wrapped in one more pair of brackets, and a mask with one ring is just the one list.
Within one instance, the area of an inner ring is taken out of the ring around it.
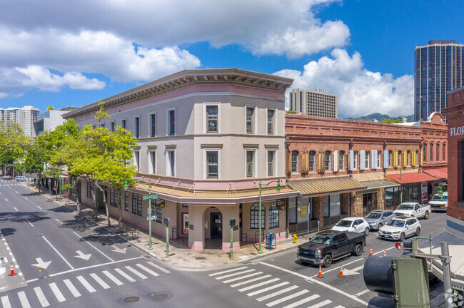
{"label": "white-striped crosswalk in front of the black pickup truck", "polygon": [[308,289],[246,266],[213,272],[208,276],[228,284],[229,287],[243,292],[248,297],[253,297],[256,302],[262,302],[266,307],[345,308],[341,305],[337,306],[331,299],[323,299],[319,294],[312,294]]}

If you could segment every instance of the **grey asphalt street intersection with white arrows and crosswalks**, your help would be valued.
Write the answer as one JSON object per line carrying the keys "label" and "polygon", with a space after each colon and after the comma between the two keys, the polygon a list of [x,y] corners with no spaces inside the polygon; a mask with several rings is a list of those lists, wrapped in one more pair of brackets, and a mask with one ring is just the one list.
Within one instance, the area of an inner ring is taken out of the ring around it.
{"label": "grey asphalt street intersection with white arrows and crosswalks", "polygon": [[[181,272],[14,180],[0,178],[0,204],[4,308],[365,307],[377,295],[363,282],[369,248],[402,254],[371,232],[363,255],[334,262],[322,279],[318,267],[298,262],[296,247],[221,270]],[[420,220],[421,236],[440,232],[444,221],[443,213]]]}

